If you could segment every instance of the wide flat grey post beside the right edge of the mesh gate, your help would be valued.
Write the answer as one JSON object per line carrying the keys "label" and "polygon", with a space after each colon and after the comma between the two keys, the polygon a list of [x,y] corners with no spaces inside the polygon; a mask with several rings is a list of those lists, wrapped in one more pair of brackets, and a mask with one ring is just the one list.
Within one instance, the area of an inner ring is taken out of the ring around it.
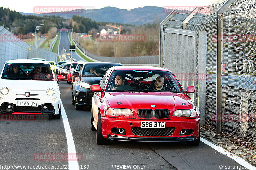
{"label": "wide flat grey post beside the right edge of the mesh gate", "polygon": [[200,110],[200,124],[205,124],[206,112],[206,55],[207,32],[199,32],[198,42],[198,107]]}

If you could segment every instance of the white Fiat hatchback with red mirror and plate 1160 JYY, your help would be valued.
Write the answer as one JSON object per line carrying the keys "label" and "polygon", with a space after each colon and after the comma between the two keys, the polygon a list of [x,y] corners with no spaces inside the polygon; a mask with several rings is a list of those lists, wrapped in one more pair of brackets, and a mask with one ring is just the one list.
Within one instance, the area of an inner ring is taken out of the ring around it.
{"label": "white Fiat hatchback with red mirror and plate 1160 JYY", "polygon": [[56,82],[48,62],[9,60],[0,77],[0,114],[48,114],[60,119],[58,83],[65,77],[58,75]]}

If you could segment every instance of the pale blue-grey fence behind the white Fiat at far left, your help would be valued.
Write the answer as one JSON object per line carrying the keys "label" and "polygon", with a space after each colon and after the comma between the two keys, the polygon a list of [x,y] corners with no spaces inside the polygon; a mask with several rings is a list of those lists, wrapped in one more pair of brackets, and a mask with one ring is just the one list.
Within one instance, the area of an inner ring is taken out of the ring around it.
{"label": "pale blue-grey fence behind the white Fiat at far left", "polygon": [[48,61],[57,62],[56,53],[44,49],[32,49],[29,44],[15,37],[10,31],[0,26],[0,70],[7,60],[44,58]]}

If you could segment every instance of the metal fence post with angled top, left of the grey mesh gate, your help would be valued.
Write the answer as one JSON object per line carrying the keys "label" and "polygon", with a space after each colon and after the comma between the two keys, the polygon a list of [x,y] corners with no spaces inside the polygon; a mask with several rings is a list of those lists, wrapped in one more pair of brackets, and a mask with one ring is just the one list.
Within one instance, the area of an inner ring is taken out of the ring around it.
{"label": "metal fence post with angled top, left of the grey mesh gate", "polygon": [[162,22],[159,30],[159,67],[164,67],[164,24],[169,21],[178,11],[173,10]]}

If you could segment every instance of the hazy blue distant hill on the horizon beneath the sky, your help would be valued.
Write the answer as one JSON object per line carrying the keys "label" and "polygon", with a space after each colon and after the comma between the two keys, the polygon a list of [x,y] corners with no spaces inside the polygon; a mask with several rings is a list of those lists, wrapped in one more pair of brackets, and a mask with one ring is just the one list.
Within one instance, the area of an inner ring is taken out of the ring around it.
{"label": "hazy blue distant hill on the horizon beneath the sky", "polygon": [[[56,15],[66,19],[72,18],[74,14],[66,13],[47,13],[47,14],[31,14],[21,13],[23,15]],[[104,7],[101,9],[83,10],[78,16],[88,17],[98,22],[114,22],[123,24],[141,25],[162,21],[168,13],[163,12],[162,7],[145,6],[143,8],[134,8],[132,10],[119,9],[116,7]]]}

